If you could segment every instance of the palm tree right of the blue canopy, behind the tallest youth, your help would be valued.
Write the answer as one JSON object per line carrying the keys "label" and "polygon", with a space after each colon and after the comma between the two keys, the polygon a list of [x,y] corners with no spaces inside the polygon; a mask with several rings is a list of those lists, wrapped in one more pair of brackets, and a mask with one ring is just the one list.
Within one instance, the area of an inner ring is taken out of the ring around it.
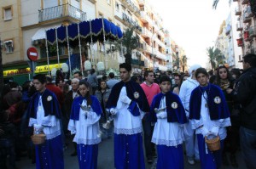
{"label": "palm tree right of the blue canopy, behind the tallest youth", "polygon": [[[139,37],[133,36],[133,32],[136,29],[136,27],[131,27],[128,28],[125,32],[124,35],[121,39],[119,39],[118,41],[114,42],[114,47],[112,49],[112,52],[115,50],[123,50],[122,48],[126,48],[125,49],[125,63],[127,64],[131,64],[131,53],[132,50],[136,49],[139,47]],[[124,50],[123,50],[124,52]]]}

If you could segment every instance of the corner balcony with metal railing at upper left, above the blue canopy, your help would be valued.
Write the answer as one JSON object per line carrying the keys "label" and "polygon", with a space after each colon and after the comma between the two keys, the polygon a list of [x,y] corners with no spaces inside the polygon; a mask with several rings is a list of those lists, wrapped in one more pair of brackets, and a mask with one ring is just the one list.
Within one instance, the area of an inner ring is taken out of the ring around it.
{"label": "corner balcony with metal railing at upper left, above the blue canopy", "polygon": [[86,20],[86,13],[81,11],[79,8],[73,7],[70,4],[63,4],[60,6],[39,10],[39,22],[55,20],[64,17],[70,20],[84,21]]}

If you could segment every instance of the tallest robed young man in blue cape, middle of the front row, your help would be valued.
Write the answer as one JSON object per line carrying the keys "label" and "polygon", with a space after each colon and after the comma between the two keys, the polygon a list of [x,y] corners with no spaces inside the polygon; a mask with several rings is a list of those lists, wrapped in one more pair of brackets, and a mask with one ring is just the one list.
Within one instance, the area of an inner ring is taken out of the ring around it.
{"label": "tallest robed young man in blue cape, middle of the front row", "polygon": [[106,108],[113,116],[114,166],[117,169],[144,169],[144,112],[149,111],[143,88],[131,81],[131,65],[119,65],[121,82],[115,84]]}

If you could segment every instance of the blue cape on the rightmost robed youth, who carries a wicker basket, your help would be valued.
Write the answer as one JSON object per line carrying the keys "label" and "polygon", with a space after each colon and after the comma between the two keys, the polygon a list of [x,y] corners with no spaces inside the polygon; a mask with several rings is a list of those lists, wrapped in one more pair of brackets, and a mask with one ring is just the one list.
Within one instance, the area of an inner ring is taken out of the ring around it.
{"label": "blue cape on the rightmost robed youth, who carries a wicker basket", "polygon": [[[189,119],[200,120],[201,116],[201,96],[207,92],[207,104],[210,112],[211,120],[219,120],[230,117],[230,110],[226,103],[222,90],[211,83],[207,87],[195,87],[192,91],[189,101]],[[210,91],[210,92],[209,92]],[[215,103],[214,99],[218,97],[220,103]]]}

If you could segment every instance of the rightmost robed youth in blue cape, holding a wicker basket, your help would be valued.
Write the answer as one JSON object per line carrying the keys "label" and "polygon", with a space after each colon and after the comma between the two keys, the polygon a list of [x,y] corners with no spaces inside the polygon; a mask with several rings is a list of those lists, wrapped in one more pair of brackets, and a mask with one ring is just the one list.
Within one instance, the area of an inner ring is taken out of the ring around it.
{"label": "rightmost robed youth in blue cape, holding a wicker basket", "polygon": [[[217,169],[221,166],[226,128],[230,123],[230,110],[220,87],[208,83],[208,73],[204,68],[195,71],[200,86],[191,93],[189,102],[189,120],[198,140],[202,169]],[[208,149],[205,137],[219,137],[220,149]]]}

